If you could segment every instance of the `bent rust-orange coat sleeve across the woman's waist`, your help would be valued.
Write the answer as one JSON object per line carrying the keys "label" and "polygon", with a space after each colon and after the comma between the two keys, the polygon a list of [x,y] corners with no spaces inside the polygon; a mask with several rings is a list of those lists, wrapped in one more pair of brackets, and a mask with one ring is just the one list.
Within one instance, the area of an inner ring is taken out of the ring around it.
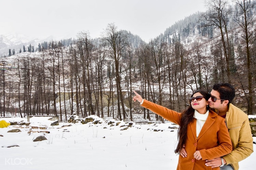
{"label": "bent rust-orange coat sleeve across the woman's waist", "polygon": [[232,151],[232,143],[225,124],[225,119],[221,119],[219,131],[217,132],[217,139],[219,143],[218,146],[200,150],[202,160],[211,160],[226,155]]}

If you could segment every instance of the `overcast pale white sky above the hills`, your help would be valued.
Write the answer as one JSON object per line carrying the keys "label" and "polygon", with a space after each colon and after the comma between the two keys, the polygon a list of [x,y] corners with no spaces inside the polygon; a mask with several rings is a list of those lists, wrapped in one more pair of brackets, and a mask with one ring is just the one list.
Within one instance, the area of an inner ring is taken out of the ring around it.
{"label": "overcast pale white sky above the hills", "polygon": [[148,42],[198,11],[205,11],[204,0],[1,0],[0,35],[59,39],[88,31],[96,38],[114,23]]}

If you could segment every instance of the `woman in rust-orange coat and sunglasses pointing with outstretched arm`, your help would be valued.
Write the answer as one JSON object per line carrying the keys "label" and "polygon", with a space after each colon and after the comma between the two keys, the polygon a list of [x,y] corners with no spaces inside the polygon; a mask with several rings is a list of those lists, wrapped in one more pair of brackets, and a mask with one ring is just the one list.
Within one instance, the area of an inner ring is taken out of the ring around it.
{"label": "woman in rust-orange coat and sunglasses pointing with outstretched arm", "polygon": [[134,102],[139,101],[142,107],[180,125],[175,153],[179,154],[186,146],[187,156],[179,156],[178,170],[212,169],[205,166],[206,159],[221,157],[232,151],[225,119],[208,110],[210,95],[207,91],[196,90],[189,98],[189,107],[183,113],[142,99],[136,91],[134,93]]}

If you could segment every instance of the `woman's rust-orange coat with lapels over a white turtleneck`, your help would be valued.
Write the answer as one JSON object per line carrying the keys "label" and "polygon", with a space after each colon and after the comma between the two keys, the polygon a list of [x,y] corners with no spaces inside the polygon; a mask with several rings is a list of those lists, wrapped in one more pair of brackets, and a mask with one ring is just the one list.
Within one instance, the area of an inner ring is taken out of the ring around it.
{"label": "woman's rust-orange coat with lapels over a white turtleneck", "polygon": [[[181,113],[170,110],[166,107],[152,103],[144,99],[142,105],[150,111],[163,118],[180,125]],[[189,123],[187,127],[187,141],[185,144],[187,157],[179,156],[178,170],[205,170],[212,169],[205,166],[205,160],[224,156],[232,151],[232,143],[225,119],[218,116],[213,111],[209,111],[209,116],[205,121],[202,130],[196,137],[196,119]],[[200,151],[202,159],[194,158],[194,153]],[[213,169],[219,169],[213,168]]]}

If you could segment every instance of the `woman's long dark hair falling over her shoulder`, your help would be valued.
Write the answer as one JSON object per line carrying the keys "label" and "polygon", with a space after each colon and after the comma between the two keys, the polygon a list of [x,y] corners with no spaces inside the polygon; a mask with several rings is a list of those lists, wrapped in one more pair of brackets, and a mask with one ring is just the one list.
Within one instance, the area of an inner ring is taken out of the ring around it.
{"label": "woman's long dark hair falling over her shoulder", "polygon": [[[206,90],[196,90],[191,97],[195,93],[200,93],[205,100],[210,98],[210,94]],[[187,126],[188,124],[193,121],[195,109],[192,108],[191,102],[189,102],[189,107],[182,113],[180,127],[178,129],[178,145],[177,148],[174,150],[175,153],[180,153],[180,150],[183,148],[187,140]]]}

